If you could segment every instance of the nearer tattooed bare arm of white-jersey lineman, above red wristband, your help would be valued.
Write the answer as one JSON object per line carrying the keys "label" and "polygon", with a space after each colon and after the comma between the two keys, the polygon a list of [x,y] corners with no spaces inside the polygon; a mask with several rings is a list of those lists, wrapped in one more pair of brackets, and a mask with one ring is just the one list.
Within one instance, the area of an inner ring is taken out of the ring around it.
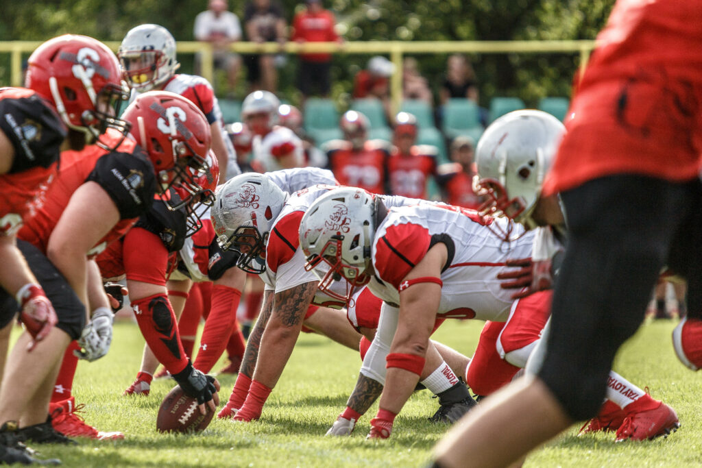
{"label": "nearer tattooed bare arm of white-jersey lineman, above red wristband", "polygon": [[[317,281],[310,281],[275,294],[270,319],[260,338],[258,365],[253,380],[271,389],[275,387],[293,352],[318,284]],[[249,352],[249,345],[246,345],[246,352]],[[241,368],[244,368],[244,363]]]}

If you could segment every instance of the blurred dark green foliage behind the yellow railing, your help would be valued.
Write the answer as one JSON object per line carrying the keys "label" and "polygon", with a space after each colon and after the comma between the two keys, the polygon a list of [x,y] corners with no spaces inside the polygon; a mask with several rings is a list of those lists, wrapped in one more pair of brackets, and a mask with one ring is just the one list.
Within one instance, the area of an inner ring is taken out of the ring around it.
{"label": "blurred dark green foliage behind the yellow railing", "polygon": [[[232,11],[243,19],[243,1],[231,1]],[[280,2],[291,21],[300,0]],[[604,25],[613,0],[329,0],[347,41],[508,41],[522,39],[594,39]],[[181,41],[192,40],[195,15],[206,1],[178,0],[44,0],[5,2],[0,41],[44,40],[57,34],[88,34],[119,41],[143,22],[156,22]],[[417,55],[423,74],[434,91],[442,83],[444,54]],[[471,57],[477,72],[484,107],[495,95],[515,95],[536,105],[545,95],[569,95],[578,65],[574,54],[505,55]],[[367,55],[337,55],[334,59],[333,96],[344,107],[352,77],[364,67]],[[183,71],[192,72],[185,57]],[[7,62],[7,63],[6,63]],[[0,58],[0,81],[8,77],[8,61]],[[298,102],[296,60],[281,70],[282,96]],[[218,80],[223,80],[220,76]],[[241,93],[246,93],[241,86]]]}

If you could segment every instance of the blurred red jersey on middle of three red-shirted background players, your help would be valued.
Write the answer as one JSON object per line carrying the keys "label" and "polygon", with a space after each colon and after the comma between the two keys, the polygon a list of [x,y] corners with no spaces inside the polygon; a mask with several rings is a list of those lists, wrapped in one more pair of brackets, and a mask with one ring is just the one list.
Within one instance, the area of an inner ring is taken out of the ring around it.
{"label": "blurred red jersey on middle of three red-shirted background players", "polygon": [[436,149],[428,145],[413,146],[409,154],[393,148],[388,159],[390,193],[413,199],[427,198],[427,182],[436,173]]}

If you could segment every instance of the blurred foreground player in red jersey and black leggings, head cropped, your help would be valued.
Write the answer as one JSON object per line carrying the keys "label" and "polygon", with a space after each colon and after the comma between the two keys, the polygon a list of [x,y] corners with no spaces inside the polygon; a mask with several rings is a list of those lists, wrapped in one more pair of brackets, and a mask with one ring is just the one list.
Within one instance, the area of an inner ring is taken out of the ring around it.
{"label": "blurred foreground player in red jersey and black leggings, head cropped", "polygon": [[[682,0],[614,6],[543,187],[543,196],[560,194],[569,225],[543,363],[449,434],[439,466],[509,464],[592,417],[666,261],[690,286],[675,350],[687,366],[702,364],[701,20],[699,5]],[[515,415],[524,424],[509,424]]]}

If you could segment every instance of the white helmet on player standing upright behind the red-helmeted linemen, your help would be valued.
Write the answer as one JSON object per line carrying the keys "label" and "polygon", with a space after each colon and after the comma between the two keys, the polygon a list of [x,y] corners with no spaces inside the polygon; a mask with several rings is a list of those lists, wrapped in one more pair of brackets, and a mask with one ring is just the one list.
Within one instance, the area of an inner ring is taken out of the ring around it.
{"label": "white helmet on player standing upright behind the red-helmeted linemen", "polygon": [[144,93],[176,74],[176,39],[159,25],[140,25],[129,30],[117,50],[124,81]]}

